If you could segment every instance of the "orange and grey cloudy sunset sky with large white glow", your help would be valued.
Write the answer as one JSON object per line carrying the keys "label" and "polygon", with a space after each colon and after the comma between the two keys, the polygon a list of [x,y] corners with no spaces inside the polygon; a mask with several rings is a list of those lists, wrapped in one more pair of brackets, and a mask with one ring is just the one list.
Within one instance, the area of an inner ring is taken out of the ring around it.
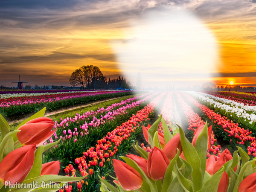
{"label": "orange and grey cloudy sunset sky with large white glow", "polygon": [[82,65],[143,87],[256,86],[256,0],[0,0],[0,85],[70,86]]}

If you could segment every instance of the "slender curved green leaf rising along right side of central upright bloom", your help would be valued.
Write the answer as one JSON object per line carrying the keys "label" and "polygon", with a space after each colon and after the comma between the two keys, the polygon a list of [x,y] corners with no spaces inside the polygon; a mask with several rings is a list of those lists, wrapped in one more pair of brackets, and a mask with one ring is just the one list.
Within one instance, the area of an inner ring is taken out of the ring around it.
{"label": "slender curved green leaf rising along right side of central upright bloom", "polygon": [[180,150],[177,148],[177,154],[175,157],[171,160],[169,166],[166,169],[166,172],[163,177],[163,185],[162,185],[162,192],[167,192],[170,183],[172,182],[172,170],[175,166],[175,161],[179,158],[180,156]]}

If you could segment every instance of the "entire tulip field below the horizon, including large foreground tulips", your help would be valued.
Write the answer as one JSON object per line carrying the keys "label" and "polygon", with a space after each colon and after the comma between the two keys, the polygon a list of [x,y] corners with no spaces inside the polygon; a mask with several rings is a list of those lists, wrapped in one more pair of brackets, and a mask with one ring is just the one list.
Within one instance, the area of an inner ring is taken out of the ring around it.
{"label": "entire tulip field below the horizon, including large foreground tulips", "polygon": [[[43,192],[18,187],[42,180],[53,181],[47,192],[256,192],[253,93],[17,91],[0,101],[0,192]],[[38,112],[15,128],[4,119],[29,110]]]}

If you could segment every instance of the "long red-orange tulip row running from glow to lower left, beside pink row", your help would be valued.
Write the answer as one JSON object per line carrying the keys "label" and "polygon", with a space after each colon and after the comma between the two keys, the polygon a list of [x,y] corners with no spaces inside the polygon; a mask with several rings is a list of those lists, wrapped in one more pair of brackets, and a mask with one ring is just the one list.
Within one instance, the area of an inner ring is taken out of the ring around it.
{"label": "long red-orange tulip row running from glow to lower left, beside pink row", "polygon": [[[108,135],[101,140],[98,140],[98,144],[84,152],[83,157],[76,158],[74,162],[78,165],[81,175],[86,174],[86,172],[93,175],[96,170],[99,170],[99,172],[97,171],[96,173],[104,175],[104,172],[106,172],[105,168],[112,165],[111,159],[118,158],[120,148],[124,148],[127,145],[123,143],[123,141],[129,140],[130,137],[136,134],[136,130],[140,129],[141,124],[149,120],[149,115],[159,105],[160,100],[165,94],[166,92],[161,93],[145,108],[137,111],[137,114],[133,115],[130,120],[123,122],[121,126],[118,126],[115,130],[111,131],[111,133],[108,133]],[[137,132],[140,132],[140,130],[137,130]],[[64,170],[66,174],[69,174],[70,167],[66,167]],[[91,183],[93,183],[92,180],[86,184],[90,186]],[[82,188],[87,189],[88,186],[83,185]]]}

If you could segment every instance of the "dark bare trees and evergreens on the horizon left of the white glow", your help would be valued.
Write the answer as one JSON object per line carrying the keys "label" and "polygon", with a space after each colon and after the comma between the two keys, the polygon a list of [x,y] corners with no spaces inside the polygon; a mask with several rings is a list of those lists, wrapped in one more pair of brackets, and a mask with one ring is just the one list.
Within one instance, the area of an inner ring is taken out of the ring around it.
{"label": "dark bare trees and evergreens on the horizon left of the white glow", "polygon": [[[137,75],[137,89],[142,88],[141,74]],[[119,76],[116,79],[108,79],[103,76],[99,67],[93,65],[82,66],[75,70],[70,77],[70,84],[72,86],[80,86],[80,89],[116,89],[118,87],[126,89],[134,89],[135,87],[131,84],[131,81],[126,81],[125,78]]]}

